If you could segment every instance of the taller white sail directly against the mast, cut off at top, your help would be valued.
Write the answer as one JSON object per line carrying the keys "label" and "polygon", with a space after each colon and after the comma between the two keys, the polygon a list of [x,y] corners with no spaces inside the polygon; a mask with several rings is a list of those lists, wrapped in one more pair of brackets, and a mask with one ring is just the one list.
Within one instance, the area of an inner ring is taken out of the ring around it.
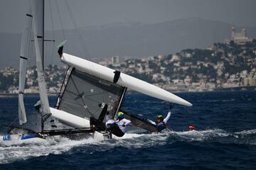
{"label": "taller white sail directly against the mast, cut off at top", "polygon": [[43,1],[31,0],[33,14],[33,32],[36,47],[36,67],[38,72],[38,86],[43,113],[50,113],[46,81],[43,73]]}

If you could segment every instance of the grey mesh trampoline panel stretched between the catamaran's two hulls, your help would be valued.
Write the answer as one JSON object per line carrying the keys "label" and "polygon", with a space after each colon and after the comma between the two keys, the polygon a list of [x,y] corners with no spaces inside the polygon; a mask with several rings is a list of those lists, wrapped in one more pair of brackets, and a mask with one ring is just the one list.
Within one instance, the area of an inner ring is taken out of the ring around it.
{"label": "grey mesh trampoline panel stretched between the catamaran's two hulls", "polygon": [[80,118],[98,119],[107,104],[107,111],[114,115],[123,91],[122,86],[73,69],[58,109]]}

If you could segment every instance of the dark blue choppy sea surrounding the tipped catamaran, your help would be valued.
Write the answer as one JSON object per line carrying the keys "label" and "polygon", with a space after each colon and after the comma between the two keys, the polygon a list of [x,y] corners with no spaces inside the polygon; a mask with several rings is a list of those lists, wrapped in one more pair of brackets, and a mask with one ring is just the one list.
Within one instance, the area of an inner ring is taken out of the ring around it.
{"label": "dark blue choppy sea surrounding the tipped catamaran", "polygon": [[[122,140],[59,138],[34,145],[0,146],[0,169],[256,169],[256,91],[179,93],[192,107],[173,105],[161,134]],[[37,96],[27,96],[37,114]],[[50,97],[52,106],[56,97]],[[122,110],[154,120],[170,103],[128,92]],[[17,125],[17,96],[1,96],[0,125]],[[188,125],[196,131],[189,132]],[[1,132],[0,132],[1,134]]]}

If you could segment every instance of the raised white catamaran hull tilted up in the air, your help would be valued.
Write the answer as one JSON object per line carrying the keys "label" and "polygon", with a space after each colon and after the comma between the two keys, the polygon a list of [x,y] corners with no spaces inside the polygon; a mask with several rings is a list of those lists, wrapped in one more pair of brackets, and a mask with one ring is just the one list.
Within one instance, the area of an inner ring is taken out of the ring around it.
{"label": "raised white catamaran hull tilted up in the air", "polygon": [[[88,60],[84,60],[79,57],[75,57],[73,55],[68,55],[65,53],[63,53],[62,55],[61,61],[72,67],[75,67],[76,69],[79,69],[81,72],[92,74],[95,77],[100,77],[108,81],[113,81],[114,79],[114,69],[104,67],[100,64],[96,64],[94,62],[90,62]],[[192,104],[188,101],[185,101],[183,98],[171,94],[169,91],[165,91],[164,89],[161,89],[140,79],[131,77],[124,73],[121,73],[119,75],[119,79],[116,83],[120,86],[126,86],[127,88],[134,91],[138,91],[142,94],[159,98],[164,101],[178,103],[183,106],[192,106]]]}

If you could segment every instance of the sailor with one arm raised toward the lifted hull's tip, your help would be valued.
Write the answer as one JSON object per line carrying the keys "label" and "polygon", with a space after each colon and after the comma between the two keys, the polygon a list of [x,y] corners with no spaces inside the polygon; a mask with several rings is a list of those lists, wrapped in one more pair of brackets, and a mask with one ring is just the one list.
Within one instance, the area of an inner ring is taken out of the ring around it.
{"label": "sailor with one arm raised toward the lifted hull's tip", "polygon": [[156,125],[158,132],[168,132],[169,131],[167,128],[167,122],[171,116],[171,108],[172,108],[172,106],[170,106],[169,112],[167,113],[166,118],[163,118],[163,115],[159,114],[159,115],[156,115],[155,122],[152,120],[149,120],[149,123]]}

